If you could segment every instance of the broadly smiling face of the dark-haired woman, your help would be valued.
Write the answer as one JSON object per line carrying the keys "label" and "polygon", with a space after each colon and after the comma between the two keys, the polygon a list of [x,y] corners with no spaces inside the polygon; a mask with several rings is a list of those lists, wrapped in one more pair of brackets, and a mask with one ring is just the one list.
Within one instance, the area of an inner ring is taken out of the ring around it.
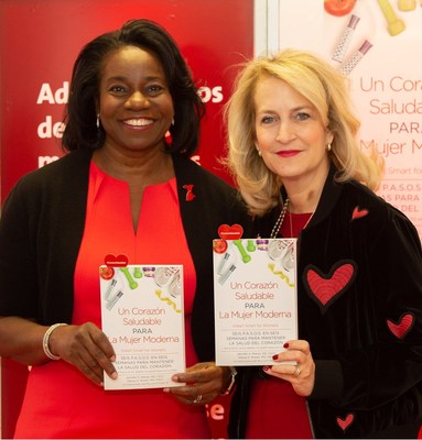
{"label": "broadly smiling face of the dark-haired woman", "polygon": [[164,69],[151,52],[127,46],[105,59],[98,106],[105,147],[164,150],[174,108]]}

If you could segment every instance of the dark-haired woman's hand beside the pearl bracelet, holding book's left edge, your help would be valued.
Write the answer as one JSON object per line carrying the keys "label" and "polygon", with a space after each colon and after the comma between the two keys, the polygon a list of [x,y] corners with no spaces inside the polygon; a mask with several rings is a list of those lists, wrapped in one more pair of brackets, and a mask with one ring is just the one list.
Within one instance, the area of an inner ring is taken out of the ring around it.
{"label": "dark-haired woman's hand beside the pearl bracelet, holding book's left edge", "polygon": [[50,351],[75,365],[85,376],[102,385],[104,372],[117,378],[115,350],[102,331],[91,322],[57,327],[48,341]]}

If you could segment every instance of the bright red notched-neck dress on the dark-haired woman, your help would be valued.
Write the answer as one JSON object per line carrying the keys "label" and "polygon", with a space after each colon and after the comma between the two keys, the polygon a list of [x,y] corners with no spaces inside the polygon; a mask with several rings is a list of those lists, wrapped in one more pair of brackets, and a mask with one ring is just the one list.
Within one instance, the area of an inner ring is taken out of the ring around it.
{"label": "bright red notched-neck dress on the dark-haired woman", "polygon": [[[197,362],[191,338],[196,275],[175,178],[145,188],[136,232],[131,219],[127,184],[91,162],[72,323],[101,326],[98,267],[107,254],[125,254],[130,264],[183,264],[186,362],[192,365]],[[32,367],[15,437],[209,438],[210,432],[202,406],[180,404],[162,389],[106,392],[72,365],[56,361]]]}

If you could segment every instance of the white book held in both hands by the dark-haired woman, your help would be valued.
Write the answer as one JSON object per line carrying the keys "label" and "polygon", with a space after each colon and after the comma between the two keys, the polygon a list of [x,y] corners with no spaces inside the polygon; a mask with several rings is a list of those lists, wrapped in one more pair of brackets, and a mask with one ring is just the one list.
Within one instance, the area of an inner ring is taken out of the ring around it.
{"label": "white book held in both hands by the dark-haired woman", "polygon": [[183,266],[99,267],[101,326],[116,352],[118,378],[105,389],[181,386],[184,372]]}

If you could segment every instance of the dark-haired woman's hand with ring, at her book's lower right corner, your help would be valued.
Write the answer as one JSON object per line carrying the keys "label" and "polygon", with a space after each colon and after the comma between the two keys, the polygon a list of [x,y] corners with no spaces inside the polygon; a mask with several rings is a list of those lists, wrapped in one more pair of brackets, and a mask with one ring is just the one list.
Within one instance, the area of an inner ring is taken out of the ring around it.
{"label": "dark-haired woman's hand with ring, at her book's lower right corner", "polygon": [[228,369],[216,366],[214,362],[202,362],[186,369],[185,373],[175,374],[172,380],[185,383],[183,386],[164,388],[177,400],[187,405],[204,405],[214,400],[227,382]]}

